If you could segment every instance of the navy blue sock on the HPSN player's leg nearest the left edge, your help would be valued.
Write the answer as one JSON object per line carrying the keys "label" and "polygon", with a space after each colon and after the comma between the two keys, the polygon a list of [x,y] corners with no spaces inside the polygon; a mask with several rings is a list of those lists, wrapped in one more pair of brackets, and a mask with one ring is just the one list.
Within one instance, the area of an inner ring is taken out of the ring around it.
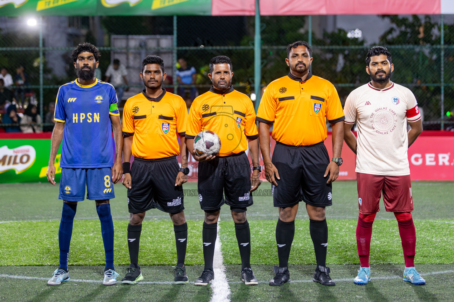
{"label": "navy blue sock on the HPSN player's leg nearest the left edge", "polygon": [[63,203],[60,227],[58,230],[58,245],[60,248],[60,268],[68,270],[69,244],[73,234],[73,221],[77,204]]}

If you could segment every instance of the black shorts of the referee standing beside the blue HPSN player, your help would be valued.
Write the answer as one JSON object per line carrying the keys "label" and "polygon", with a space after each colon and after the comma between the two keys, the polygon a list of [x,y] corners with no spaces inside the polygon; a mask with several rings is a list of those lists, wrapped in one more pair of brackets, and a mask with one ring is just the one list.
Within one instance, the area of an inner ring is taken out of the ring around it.
{"label": "black shorts of the referee standing beside the blue HPSN player", "polygon": [[142,213],[155,208],[166,213],[183,211],[183,187],[175,187],[179,168],[176,156],[134,158],[131,188],[128,189],[129,213]]}

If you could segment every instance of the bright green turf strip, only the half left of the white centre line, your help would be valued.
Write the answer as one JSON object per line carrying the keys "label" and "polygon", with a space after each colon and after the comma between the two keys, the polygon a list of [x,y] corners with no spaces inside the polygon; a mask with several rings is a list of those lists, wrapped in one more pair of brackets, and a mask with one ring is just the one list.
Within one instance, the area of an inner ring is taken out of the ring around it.
{"label": "bright green turf strip, only the half left of the white centre line", "polygon": [[[115,264],[129,264],[128,221],[114,221]],[[187,264],[203,263],[202,221],[188,221]],[[0,224],[1,265],[59,263],[59,221],[20,221]],[[176,264],[175,233],[171,221],[144,221],[139,264]],[[101,226],[96,220],[74,221],[69,265],[105,264]]]}

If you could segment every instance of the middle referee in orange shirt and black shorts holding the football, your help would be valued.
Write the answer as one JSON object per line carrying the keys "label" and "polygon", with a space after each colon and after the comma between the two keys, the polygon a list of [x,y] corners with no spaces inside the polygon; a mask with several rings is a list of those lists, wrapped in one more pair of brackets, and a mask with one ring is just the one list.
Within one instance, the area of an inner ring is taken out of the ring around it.
{"label": "middle referee in orange shirt and black shorts holding the football", "polygon": [[[209,71],[208,77],[213,86],[192,103],[186,130],[188,150],[199,162],[197,187],[200,206],[205,211],[202,230],[205,268],[194,284],[207,285],[214,279],[217,220],[221,206],[227,203],[235,222],[242,263],[241,279],[247,285],[254,285],[258,281],[250,264],[251,233],[246,219],[247,207],[252,205],[251,192],[260,185],[261,171],[254,106],[248,96],[233,89],[230,58],[212,58]],[[194,137],[202,130],[211,130],[221,139],[221,150],[216,156],[197,156],[194,151]],[[248,145],[253,166],[252,179],[249,159],[244,152]]]}

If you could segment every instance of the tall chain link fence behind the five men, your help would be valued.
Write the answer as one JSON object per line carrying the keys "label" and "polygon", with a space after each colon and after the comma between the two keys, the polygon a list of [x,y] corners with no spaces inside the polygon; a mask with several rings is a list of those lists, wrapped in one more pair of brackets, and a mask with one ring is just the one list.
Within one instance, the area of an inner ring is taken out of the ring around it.
{"label": "tall chain link fence behind the five men", "polygon": [[[379,43],[388,47],[393,55],[395,72],[391,79],[415,94],[424,112],[424,129],[452,129],[454,25],[444,24],[442,33],[440,22],[431,21],[430,16],[383,18],[389,20],[391,29],[381,34]],[[55,97],[60,85],[76,78],[69,55],[81,42],[94,43],[100,49],[96,75],[100,80],[106,80],[106,71],[114,59],[120,60],[127,69],[127,82],[118,86],[124,90],[120,110],[128,97],[142,91],[140,61],[150,54],[165,59],[168,79],[164,86],[183,96],[188,107],[194,97],[209,90],[208,63],[217,55],[232,59],[232,84],[256,101],[253,16],[43,17],[37,27],[27,27],[26,19],[20,17],[0,17],[0,21],[0,68],[4,68],[3,73],[10,74],[13,81],[7,87],[10,92],[0,89],[3,123],[0,131],[21,130],[18,121],[11,120],[5,110],[5,104],[9,103],[16,105],[20,118],[28,106],[37,105],[41,117],[38,126],[44,131],[52,130]],[[352,90],[370,81],[365,72],[365,55],[371,45],[360,38],[349,37],[344,29],[321,34],[311,31],[310,34],[311,26],[307,21],[306,16],[262,16],[261,87],[288,73],[286,45],[306,40],[313,48],[313,74],[331,81],[344,103]],[[192,67],[195,76],[188,77]],[[6,80],[8,76],[2,77]]]}

